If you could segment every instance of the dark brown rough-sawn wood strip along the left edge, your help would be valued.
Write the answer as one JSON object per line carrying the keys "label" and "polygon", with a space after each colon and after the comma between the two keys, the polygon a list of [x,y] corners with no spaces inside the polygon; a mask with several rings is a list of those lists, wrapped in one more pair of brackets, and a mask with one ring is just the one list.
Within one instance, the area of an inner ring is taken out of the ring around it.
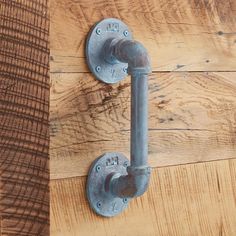
{"label": "dark brown rough-sawn wood strip along the left edge", "polygon": [[2,236],[49,235],[47,0],[0,0]]}

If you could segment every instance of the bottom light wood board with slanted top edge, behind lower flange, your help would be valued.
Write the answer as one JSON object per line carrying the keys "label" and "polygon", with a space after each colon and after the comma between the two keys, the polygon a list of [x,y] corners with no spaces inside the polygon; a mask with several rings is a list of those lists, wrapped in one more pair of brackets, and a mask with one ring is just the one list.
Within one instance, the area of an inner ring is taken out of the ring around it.
{"label": "bottom light wood board with slanted top edge, behind lower flange", "polygon": [[113,218],[92,212],[85,177],[51,181],[52,236],[234,236],[236,160],[155,168],[147,193]]}

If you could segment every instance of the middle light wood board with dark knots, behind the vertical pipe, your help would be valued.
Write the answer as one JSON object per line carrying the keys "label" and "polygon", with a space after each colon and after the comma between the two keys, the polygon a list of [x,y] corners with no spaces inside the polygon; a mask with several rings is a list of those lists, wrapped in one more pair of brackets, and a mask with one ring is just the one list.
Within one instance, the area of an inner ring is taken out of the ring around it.
{"label": "middle light wood board with dark knots, behind the vertical pipe", "polygon": [[[130,80],[52,74],[51,178],[87,175],[104,152],[130,151]],[[149,162],[178,165],[236,158],[236,73],[149,77]]]}

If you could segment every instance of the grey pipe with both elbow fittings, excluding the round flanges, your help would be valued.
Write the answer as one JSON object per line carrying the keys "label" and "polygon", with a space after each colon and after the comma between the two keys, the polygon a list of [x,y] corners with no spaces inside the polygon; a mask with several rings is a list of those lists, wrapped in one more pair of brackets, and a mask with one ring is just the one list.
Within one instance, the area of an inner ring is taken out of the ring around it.
{"label": "grey pipe with both elbow fittings, excluding the round flanges", "polygon": [[146,191],[150,176],[148,157],[148,73],[147,50],[137,41],[109,39],[104,46],[108,63],[128,63],[131,75],[131,165],[128,175],[109,177],[108,190],[119,197],[135,197]]}

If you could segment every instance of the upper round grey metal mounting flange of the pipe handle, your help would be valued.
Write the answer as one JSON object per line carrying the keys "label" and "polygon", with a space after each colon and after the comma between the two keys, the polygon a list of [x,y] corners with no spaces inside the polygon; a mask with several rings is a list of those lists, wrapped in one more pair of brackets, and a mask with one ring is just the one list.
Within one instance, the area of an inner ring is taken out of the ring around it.
{"label": "upper round grey metal mounting flange of the pipe handle", "polygon": [[109,64],[103,55],[104,43],[111,38],[132,39],[127,25],[115,18],[98,22],[89,32],[86,42],[86,60],[90,71],[102,82],[113,84],[127,76],[127,63]]}

